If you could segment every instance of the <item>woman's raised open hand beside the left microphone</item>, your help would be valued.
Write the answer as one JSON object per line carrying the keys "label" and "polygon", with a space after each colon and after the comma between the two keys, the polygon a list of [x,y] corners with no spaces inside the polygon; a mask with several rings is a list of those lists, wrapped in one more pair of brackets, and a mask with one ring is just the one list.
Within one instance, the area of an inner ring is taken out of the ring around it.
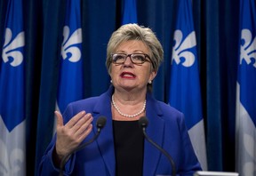
{"label": "woman's raised open hand beside the left microphone", "polygon": [[90,113],[86,114],[85,111],[81,111],[64,125],[63,117],[60,112],[55,111],[54,113],[57,118],[57,140],[55,145],[54,161],[59,165],[61,159],[79,146],[88,134],[92,132],[93,118]]}

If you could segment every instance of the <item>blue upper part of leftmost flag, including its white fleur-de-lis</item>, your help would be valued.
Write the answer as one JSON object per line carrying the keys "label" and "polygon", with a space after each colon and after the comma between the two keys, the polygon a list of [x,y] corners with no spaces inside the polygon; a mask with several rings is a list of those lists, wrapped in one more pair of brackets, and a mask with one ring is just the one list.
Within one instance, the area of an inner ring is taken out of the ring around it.
{"label": "blue upper part of leftmost flag, including its white fleur-de-lis", "polygon": [[0,115],[9,132],[25,119],[25,34],[22,1],[10,0],[6,16],[3,54],[0,60]]}

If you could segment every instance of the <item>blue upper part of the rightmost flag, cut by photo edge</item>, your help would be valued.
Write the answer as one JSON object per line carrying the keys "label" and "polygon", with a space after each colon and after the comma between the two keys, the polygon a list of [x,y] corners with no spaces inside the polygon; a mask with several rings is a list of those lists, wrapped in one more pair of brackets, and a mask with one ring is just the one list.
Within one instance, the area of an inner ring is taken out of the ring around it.
{"label": "blue upper part of the rightmost flag, cut by photo edge", "polygon": [[240,101],[256,126],[256,4],[254,0],[241,0],[241,55],[237,81]]}

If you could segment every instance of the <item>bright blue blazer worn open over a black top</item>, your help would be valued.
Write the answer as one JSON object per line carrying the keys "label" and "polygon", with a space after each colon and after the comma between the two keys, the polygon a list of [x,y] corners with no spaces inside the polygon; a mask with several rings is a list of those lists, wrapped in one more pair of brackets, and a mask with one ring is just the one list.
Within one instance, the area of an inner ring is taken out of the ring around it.
{"label": "bright blue blazer worn open over a black top", "polygon": [[[65,175],[83,176],[115,176],[116,161],[111,113],[111,96],[114,88],[99,97],[79,100],[68,105],[63,113],[64,123],[72,116],[85,110],[92,113],[93,130],[85,141],[92,139],[97,132],[96,121],[100,116],[107,117],[107,124],[97,140],[86,148],[72,155],[65,165]],[[193,175],[201,170],[195,152],[188,137],[183,114],[164,102],[157,101],[147,93],[146,115],[148,117],[148,137],[164,148],[174,160],[177,175]],[[52,163],[52,151],[56,135],[42,157],[39,175],[58,175],[59,169]],[[147,140],[144,142],[143,175],[172,175],[169,160]]]}

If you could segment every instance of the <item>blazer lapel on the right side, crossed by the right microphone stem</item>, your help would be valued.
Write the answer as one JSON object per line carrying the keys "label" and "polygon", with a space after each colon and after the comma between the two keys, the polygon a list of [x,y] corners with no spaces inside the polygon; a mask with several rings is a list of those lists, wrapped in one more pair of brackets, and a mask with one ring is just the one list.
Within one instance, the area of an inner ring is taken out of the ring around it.
{"label": "blazer lapel on the right side, crossed by the right microphone stem", "polygon": [[[146,116],[148,117],[148,127],[146,132],[148,137],[156,142],[160,147],[163,146],[164,120],[160,117],[162,112],[151,96],[147,96]],[[159,163],[161,152],[145,139],[144,144],[144,165],[143,175],[154,175],[156,166]]]}

